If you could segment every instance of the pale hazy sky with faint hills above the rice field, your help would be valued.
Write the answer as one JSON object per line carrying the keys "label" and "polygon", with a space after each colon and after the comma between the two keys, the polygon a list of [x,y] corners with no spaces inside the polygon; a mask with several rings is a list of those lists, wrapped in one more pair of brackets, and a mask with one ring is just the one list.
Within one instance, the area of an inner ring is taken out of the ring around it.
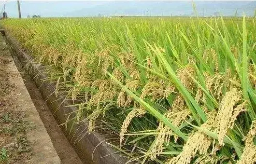
{"label": "pale hazy sky with faint hills above the rice field", "polygon": [[[254,16],[256,1],[194,1],[199,16]],[[17,1],[0,1],[8,17],[18,17]],[[24,1],[20,0],[21,15],[41,17],[83,16],[193,16],[192,1]]]}

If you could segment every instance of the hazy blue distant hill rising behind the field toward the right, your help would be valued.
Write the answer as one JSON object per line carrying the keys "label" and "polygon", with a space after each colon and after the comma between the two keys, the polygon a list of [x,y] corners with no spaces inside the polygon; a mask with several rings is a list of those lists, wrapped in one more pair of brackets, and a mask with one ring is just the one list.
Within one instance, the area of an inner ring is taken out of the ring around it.
{"label": "hazy blue distant hill rising behind the field toward the right", "polygon": [[[254,15],[256,1],[195,1],[200,16],[212,16],[219,12],[224,16],[236,13]],[[104,4],[84,7],[68,12],[65,16],[111,16],[111,15],[146,15],[152,16],[192,16],[192,1],[108,1]]]}

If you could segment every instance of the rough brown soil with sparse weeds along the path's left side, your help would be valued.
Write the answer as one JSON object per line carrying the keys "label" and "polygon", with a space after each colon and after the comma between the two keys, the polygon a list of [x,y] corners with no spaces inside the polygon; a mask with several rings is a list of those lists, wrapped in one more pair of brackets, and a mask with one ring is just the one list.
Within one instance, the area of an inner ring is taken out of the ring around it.
{"label": "rough brown soil with sparse weeds along the path's left side", "polygon": [[[1,38],[2,39],[2,38]],[[10,56],[0,40],[0,164],[30,164],[33,144],[28,141],[26,130],[33,124],[24,119],[25,112],[17,110],[15,85],[9,81]]]}

